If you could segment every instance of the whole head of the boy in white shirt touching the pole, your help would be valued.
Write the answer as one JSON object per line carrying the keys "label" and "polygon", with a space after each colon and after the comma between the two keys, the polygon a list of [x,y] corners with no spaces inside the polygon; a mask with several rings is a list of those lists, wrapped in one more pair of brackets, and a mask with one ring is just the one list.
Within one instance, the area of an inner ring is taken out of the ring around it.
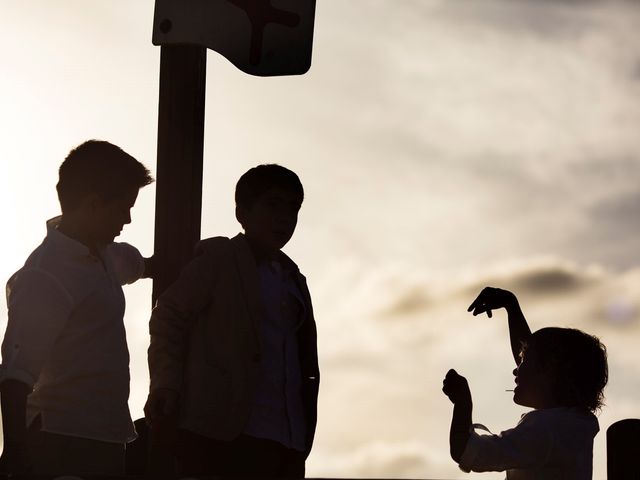
{"label": "whole head of the boy in white shirt touching the pole", "polygon": [[79,145],[59,170],[59,229],[91,249],[112,242],[131,222],[138,191],[151,182],[149,170],[121,148],[98,140]]}

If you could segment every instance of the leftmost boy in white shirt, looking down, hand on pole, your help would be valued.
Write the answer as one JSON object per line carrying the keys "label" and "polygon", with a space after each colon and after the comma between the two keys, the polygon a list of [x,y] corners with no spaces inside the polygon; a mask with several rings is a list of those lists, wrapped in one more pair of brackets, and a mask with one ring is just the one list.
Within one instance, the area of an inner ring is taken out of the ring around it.
{"label": "leftmost boy in white shirt, looking down, hand on pole", "polygon": [[145,261],[113,239],[152,181],[103,141],[83,143],[60,166],[62,215],[47,222],[44,241],[7,284],[3,472],[124,473],[135,430],[121,285],[143,276]]}

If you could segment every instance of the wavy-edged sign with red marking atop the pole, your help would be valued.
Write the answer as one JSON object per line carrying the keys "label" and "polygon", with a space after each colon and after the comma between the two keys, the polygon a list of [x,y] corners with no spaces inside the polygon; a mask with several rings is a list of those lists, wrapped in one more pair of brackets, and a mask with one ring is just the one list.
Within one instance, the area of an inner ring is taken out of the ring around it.
{"label": "wavy-edged sign with red marking atop the pole", "polygon": [[156,0],[154,45],[202,45],[252,75],[311,66],[315,0]]}

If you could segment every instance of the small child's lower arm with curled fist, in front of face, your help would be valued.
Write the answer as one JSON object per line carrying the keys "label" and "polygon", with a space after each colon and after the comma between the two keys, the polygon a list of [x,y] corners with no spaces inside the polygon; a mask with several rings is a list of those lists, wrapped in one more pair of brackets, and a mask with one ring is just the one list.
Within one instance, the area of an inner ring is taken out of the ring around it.
{"label": "small child's lower arm with curled fist, in front of face", "polygon": [[451,369],[442,382],[442,391],[453,403],[451,430],[449,431],[449,448],[451,458],[460,463],[471,430],[471,414],[473,402],[467,379]]}

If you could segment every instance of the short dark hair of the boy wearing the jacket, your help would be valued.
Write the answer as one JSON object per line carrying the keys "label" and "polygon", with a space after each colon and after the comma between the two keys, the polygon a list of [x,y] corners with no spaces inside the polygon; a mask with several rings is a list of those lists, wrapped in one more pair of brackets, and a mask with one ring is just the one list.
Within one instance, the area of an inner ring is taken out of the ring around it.
{"label": "short dark hair of the boy wearing the jacket", "polygon": [[302,183],[294,172],[275,163],[258,165],[245,172],[236,184],[236,205],[251,208],[256,199],[272,188],[282,188],[304,200]]}

